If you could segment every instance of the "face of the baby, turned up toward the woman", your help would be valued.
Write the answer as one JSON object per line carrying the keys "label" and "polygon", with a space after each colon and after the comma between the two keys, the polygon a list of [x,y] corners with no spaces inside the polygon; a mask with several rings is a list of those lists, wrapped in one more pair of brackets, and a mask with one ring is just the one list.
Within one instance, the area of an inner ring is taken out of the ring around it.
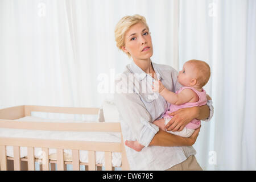
{"label": "face of the baby, turned up toward the woman", "polygon": [[183,69],[179,72],[177,80],[183,86],[191,86],[190,82],[193,78],[196,78],[195,67],[191,63],[185,63]]}

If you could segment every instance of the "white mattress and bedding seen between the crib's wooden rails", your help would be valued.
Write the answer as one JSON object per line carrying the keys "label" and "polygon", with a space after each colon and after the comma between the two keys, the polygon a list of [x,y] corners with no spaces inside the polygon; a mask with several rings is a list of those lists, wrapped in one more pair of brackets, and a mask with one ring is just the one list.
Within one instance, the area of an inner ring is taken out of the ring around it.
{"label": "white mattress and bedding seen between the crib's wooden rails", "polygon": [[[14,121],[33,121],[33,122],[71,122],[56,120],[56,119],[43,119],[38,117],[27,116]],[[85,121],[73,121],[85,122]],[[79,141],[92,141],[92,142],[121,142],[121,134],[115,132],[81,132],[81,131],[43,131],[43,130],[19,130],[19,129],[0,129],[0,137],[13,137],[13,138],[35,138],[35,139],[54,139],[54,140],[79,140]],[[67,162],[72,161],[72,150],[64,149],[64,160]],[[34,149],[36,159],[43,158],[42,148]],[[6,146],[7,156],[13,157],[13,146]],[[105,153],[103,151],[96,151],[96,164],[105,165]],[[27,147],[20,147],[20,158],[27,156]],[[79,151],[80,162],[88,163],[88,151]],[[49,159],[56,160],[56,149],[49,148]],[[114,167],[121,166],[121,153],[112,152],[112,165]]]}

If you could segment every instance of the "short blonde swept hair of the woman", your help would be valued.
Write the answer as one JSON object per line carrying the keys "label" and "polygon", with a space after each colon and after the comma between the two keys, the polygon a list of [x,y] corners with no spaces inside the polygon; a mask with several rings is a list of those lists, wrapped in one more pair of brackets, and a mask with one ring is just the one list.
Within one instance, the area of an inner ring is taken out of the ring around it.
{"label": "short blonde swept hair of the woman", "polygon": [[[146,22],[146,18],[141,15],[133,15],[133,16],[125,16],[115,26],[115,42],[117,42],[117,47],[122,50],[122,47],[125,46],[125,34],[127,30],[134,24],[137,24],[139,22],[142,22],[147,27],[148,31],[148,25]],[[129,57],[131,57],[130,53],[126,53]]]}

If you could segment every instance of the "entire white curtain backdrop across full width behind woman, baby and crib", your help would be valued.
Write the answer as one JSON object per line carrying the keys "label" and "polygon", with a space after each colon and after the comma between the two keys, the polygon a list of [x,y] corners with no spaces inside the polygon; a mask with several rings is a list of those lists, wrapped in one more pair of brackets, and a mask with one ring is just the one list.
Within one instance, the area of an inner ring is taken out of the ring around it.
{"label": "entire white curtain backdrop across full width behind woman, baby and crib", "polygon": [[[254,0],[0,0],[0,109],[16,105],[100,107],[130,59],[114,27],[141,14],[152,61],[179,69],[209,63],[214,117],[195,144],[204,169],[256,169]],[[101,76],[108,92],[98,92]]]}

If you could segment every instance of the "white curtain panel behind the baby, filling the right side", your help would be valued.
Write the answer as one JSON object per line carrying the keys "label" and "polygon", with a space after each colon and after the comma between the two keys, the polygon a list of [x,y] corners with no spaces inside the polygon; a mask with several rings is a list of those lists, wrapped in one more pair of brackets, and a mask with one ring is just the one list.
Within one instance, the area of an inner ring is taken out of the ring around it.
{"label": "white curtain panel behind the baby, filling the right side", "polygon": [[180,1],[179,65],[205,60],[214,116],[195,144],[204,169],[256,169],[256,1]]}

